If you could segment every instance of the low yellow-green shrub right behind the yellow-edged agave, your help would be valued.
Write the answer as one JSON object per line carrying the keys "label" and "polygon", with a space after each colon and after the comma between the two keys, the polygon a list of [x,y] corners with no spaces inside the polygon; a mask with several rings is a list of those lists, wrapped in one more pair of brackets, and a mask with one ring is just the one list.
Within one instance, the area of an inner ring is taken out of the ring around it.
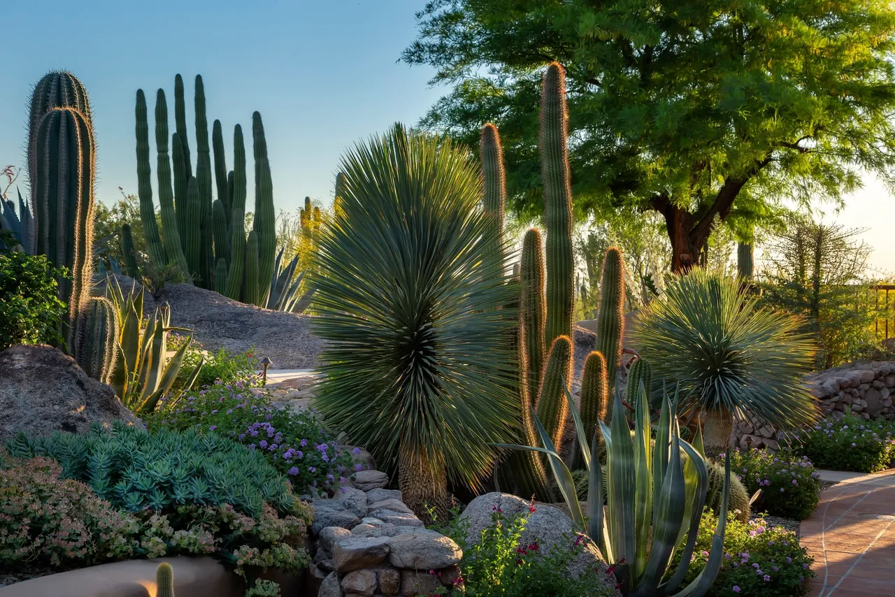
{"label": "low yellow-green shrub right behind the yellow-edged agave", "polygon": [[[168,336],[168,350],[177,350],[187,338],[188,336],[171,334]],[[255,357],[253,349],[244,353],[230,353],[221,348],[217,353],[212,353],[193,338],[192,344],[183,356],[183,364],[172,387],[173,390],[184,387],[192,370],[202,362],[203,356],[205,360],[199,371],[199,377],[192,385],[193,388],[210,387],[217,381],[223,384],[242,381],[243,385],[257,385],[258,376],[255,373],[255,367],[258,359]]]}

